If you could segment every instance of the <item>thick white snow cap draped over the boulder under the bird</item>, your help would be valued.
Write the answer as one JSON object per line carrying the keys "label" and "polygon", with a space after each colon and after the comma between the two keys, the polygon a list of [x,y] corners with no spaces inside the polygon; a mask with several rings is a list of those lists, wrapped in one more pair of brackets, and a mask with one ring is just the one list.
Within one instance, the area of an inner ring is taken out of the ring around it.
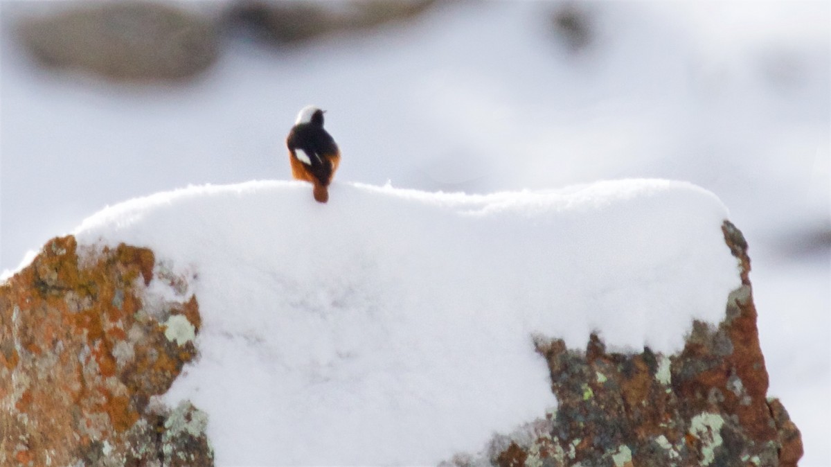
{"label": "thick white snow cap draped over the boulder under the bird", "polygon": [[[200,357],[165,394],[209,414],[217,465],[428,465],[556,405],[533,337],[678,351],[738,265],[715,195],[631,179],[428,193],[201,185],[86,219],[82,245],[153,249],[199,300]],[[195,279],[194,279],[195,278]],[[150,293],[149,292],[149,293]],[[188,323],[175,339],[187,339]]]}

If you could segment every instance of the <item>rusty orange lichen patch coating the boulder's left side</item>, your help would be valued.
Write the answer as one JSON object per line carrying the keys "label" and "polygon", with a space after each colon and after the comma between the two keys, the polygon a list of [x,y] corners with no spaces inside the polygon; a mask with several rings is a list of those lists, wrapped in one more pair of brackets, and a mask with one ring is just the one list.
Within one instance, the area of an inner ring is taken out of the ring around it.
{"label": "rusty orange lichen patch coating the boulder's left side", "polygon": [[[0,404],[16,410],[0,413],[0,425],[29,442],[19,451],[2,445],[0,458],[46,465],[49,452],[52,465],[74,465],[95,443],[124,445],[150,396],[166,391],[196,353],[192,343],[170,344],[154,318],[136,318],[154,265],[152,251],[125,244],[81,261],[67,236],[50,240],[0,287],[0,371],[26,376],[0,378]],[[195,297],[170,308],[200,322]],[[125,331],[132,327],[137,341]],[[119,345],[130,349],[121,362]]]}

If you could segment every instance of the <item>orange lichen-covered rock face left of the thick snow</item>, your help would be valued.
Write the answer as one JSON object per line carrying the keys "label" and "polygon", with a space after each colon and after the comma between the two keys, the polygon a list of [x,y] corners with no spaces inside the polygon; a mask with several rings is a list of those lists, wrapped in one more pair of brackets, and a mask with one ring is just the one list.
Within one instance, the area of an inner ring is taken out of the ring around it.
{"label": "orange lichen-covered rock face left of the thick snow", "polygon": [[195,297],[145,306],[154,271],[68,236],[0,285],[0,465],[212,465],[206,415],[154,399],[196,355],[169,323],[200,326]]}

